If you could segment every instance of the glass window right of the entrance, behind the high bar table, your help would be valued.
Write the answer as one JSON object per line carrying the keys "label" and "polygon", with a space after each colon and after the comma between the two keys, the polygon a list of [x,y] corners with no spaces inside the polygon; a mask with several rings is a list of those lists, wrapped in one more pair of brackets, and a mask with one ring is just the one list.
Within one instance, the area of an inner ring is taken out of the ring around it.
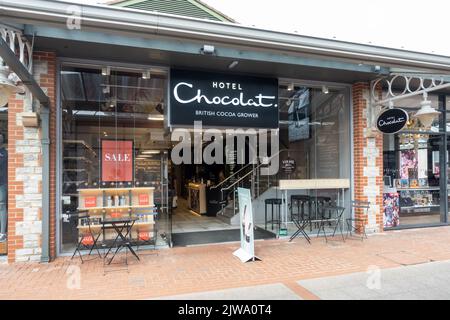
{"label": "glass window right of the entrance, behind the high bar table", "polygon": [[[280,169],[273,177],[279,180],[293,179],[347,179],[350,181],[350,108],[348,90],[345,88],[311,87],[281,84],[280,106]],[[267,195],[280,198],[281,192]],[[264,190],[263,190],[264,191]],[[261,192],[260,192],[261,193]],[[344,199],[343,199],[344,197]],[[289,190],[288,234],[297,229],[292,218],[320,219],[327,206],[343,206],[350,202],[350,190],[340,189]],[[343,202],[344,201],[344,202]],[[262,208],[265,209],[264,207]],[[271,214],[268,208],[269,216]],[[333,211],[331,214],[337,212]],[[350,210],[345,210],[349,217]],[[266,226],[264,226],[266,227]],[[317,233],[318,224],[310,224],[308,231]],[[267,226],[272,231],[272,225]],[[278,230],[276,230],[278,231]],[[276,232],[274,230],[274,232]]]}

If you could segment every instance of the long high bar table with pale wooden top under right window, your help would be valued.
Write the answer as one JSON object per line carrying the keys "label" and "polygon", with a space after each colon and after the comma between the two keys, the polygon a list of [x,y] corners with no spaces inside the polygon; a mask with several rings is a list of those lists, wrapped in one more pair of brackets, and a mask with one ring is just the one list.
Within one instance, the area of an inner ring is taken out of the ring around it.
{"label": "long high bar table with pale wooden top under right window", "polygon": [[[281,225],[287,230],[288,225],[288,191],[289,190],[338,190],[339,195],[337,197],[337,205],[344,206],[345,202],[345,190],[350,189],[349,179],[308,179],[308,180],[280,180],[278,189],[281,191],[281,198],[284,201]],[[304,235],[304,223],[294,220],[294,224],[297,226],[296,236],[300,233]],[[303,226],[303,228],[302,228]],[[305,232],[306,233],[306,232]],[[294,237],[295,238],[295,237]],[[309,238],[309,237],[308,237]],[[292,240],[293,238],[291,238]]]}

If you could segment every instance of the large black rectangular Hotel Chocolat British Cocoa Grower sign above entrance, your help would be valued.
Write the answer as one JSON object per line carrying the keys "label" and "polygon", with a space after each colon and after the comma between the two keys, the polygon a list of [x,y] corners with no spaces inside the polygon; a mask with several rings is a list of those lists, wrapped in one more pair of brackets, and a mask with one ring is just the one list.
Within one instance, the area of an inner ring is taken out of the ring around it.
{"label": "large black rectangular Hotel Chocolat British Cocoa Grower sign above entrance", "polygon": [[169,124],[278,128],[278,80],[171,70]]}

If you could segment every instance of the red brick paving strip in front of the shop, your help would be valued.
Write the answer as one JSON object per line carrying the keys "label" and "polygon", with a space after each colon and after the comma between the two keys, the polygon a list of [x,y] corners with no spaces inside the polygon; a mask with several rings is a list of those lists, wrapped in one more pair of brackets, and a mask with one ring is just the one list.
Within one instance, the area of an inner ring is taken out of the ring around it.
{"label": "red brick paving strip in front of the shop", "polygon": [[141,251],[140,262],[129,257],[128,270],[109,267],[106,274],[100,259],[0,265],[0,299],[149,299],[274,283],[314,299],[297,281],[450,260],[450,227],[386,232],[363,242],[338,239],[258,241],[262,261],[247,264],[232,255],[239,244],[229,243]]}

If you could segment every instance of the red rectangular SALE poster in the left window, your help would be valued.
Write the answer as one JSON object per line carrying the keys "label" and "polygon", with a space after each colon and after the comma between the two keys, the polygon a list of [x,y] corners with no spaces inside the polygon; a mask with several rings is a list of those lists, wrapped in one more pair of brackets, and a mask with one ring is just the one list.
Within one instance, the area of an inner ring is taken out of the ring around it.
{"label": "red rectangular SALE poster in the left window", "polygon": [[102,181],[133,181],[133,141],[102,140]]}

